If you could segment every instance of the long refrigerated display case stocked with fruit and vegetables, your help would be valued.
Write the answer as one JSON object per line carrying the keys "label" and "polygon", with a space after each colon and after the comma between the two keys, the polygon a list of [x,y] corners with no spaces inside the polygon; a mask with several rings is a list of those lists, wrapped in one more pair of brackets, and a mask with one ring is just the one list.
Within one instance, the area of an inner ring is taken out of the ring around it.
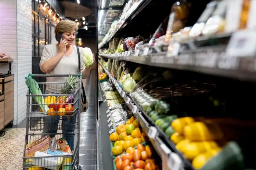
{"label": "long refrigerated display case stocked with fruit and vegetables", "polygon": [[253,0],[126,2],[98,45],[103,167],[256,168],[255,9]]}

